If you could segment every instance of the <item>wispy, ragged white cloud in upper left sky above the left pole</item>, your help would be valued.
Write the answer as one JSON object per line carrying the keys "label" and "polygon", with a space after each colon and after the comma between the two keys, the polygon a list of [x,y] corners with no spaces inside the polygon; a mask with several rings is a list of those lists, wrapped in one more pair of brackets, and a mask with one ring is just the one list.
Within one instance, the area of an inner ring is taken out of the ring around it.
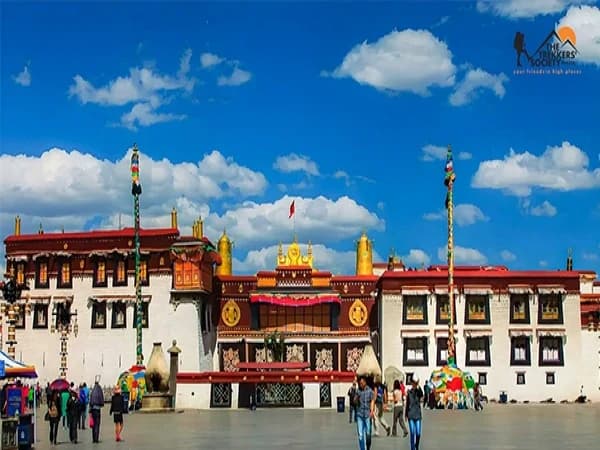
{"label": "wispy, ragged white cloud in upper left sky above the left pole", "polygon": [[131,130],[135,130],[136,125],[150,126],[182,120],[184,115],[156,110],[167,103],[167,94],[189,93],[194,89],[196,80],[188,77],[191,58],[192,50],[185,50],[176,76],[160,74],[152,67],[134,67],[129,69],[129,75],[117,77],[98,88],[77,74],[69,87],[69,97],[76,97],[84,105],[124,106],[134,103],[131,110],[121,116],[121,125]]}

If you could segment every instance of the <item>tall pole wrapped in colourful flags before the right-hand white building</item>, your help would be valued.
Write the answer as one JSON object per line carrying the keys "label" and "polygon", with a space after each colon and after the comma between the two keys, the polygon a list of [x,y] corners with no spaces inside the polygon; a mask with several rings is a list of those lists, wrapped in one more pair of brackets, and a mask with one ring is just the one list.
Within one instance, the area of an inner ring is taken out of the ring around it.
{"label": "tall pole wrapped in colourful flags before the right-hand white building", "polygon": [[446,155],[446,176],[444,184],[447,188],[446,210],[448,212],[448,303],[450,314],[448,317],[448,365],[456,366],[456,343],[454,340],[454,199],[453,188],[456,174],[452,159],[452,147],[448,146]]}

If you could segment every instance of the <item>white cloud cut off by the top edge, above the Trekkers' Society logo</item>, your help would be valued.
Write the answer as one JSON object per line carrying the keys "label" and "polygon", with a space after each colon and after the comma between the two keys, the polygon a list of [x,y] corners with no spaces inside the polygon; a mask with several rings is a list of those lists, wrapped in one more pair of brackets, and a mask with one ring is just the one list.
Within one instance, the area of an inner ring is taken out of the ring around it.
{"label": "white cloud cut off by the top edge, above the Trekkers' Society logo", "polygon": [[486,0],[477,2],[477,10],[511,19],[558,14],[570,5],[593,3],[595,0]]}

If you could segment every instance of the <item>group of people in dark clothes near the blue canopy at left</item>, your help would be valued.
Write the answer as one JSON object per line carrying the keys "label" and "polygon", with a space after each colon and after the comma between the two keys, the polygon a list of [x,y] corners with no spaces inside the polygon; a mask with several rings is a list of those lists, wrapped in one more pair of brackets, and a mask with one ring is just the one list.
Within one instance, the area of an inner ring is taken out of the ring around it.
{"label": "group of people in dark clothes near the blue canopy at left", "polygon": [[[69,389],[61,391],[52,390],[48,386],[46,390],[48,411],[45,420],[50,423],[50,444],[58,443],[58,427],[62,418],[62,426],[68,429],[69,440],[77,443],[78,429],[86,429],[86,420],[92,430],[92,442],[100,442],[100,422],[102,408],[104,407],[104,391],[98,380],[90,390],[86,383],[75,388],[71,383]],[[122,441],[124,402],[121,390],[117,386],[111,399],[110,414],[115,422],[115,440]],[[89,418],[88,418],[89,410]]]}

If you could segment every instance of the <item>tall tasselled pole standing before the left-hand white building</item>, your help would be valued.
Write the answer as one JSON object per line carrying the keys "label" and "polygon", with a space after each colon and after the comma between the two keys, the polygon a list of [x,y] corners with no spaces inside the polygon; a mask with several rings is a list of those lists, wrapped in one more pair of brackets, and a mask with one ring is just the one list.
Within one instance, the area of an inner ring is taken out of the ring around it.
{"label": "tall tasselled pole standing before the left-hand white building", "polygon": [[142,283],[140,280],[140,155],[137,144],[133,144],[131,155],[131,194],[133,195],[133,221],[135,233],[135,353],[136,364],[144,365],[142,353]]}

